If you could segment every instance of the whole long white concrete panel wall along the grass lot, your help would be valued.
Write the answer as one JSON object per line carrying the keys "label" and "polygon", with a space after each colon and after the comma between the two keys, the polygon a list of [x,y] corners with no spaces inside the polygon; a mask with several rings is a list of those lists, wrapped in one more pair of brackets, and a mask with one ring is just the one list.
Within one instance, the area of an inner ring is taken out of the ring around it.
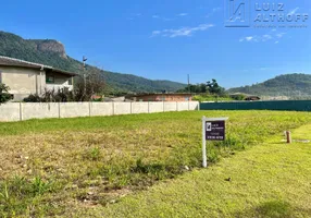
{"label": "whole long white concrete panel wall along the grass lot", "polygon": [[198,110],[198,101],[184,102],[9,102],[0,106],[0,122],[43,118],[153,113]]}

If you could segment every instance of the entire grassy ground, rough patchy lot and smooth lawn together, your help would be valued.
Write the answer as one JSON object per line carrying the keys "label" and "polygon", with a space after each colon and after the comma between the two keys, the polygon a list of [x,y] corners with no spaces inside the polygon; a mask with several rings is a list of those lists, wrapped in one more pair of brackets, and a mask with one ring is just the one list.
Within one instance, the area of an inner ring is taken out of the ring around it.
{"label": "entire grassy ground, rough patchy lot and smooth lawn together", "polygon": [[[202,116],[231,118],[227,140],[208,147],[208,170],[198,170]],[[279,143],[308,123],[310,113],[271,111],[0,123],[0,217],[310,215],[308,144]]]}

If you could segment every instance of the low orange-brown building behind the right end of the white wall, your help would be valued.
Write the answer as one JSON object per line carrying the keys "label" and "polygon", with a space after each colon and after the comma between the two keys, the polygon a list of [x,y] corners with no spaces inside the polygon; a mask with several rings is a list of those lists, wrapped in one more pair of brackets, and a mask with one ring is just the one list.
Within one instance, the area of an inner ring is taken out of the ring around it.
{"label": "low orange-brown building behind the right end of the white wall", "polygon": [[140,94],[128,98],[133,101],[190,101],[192,94]]}

